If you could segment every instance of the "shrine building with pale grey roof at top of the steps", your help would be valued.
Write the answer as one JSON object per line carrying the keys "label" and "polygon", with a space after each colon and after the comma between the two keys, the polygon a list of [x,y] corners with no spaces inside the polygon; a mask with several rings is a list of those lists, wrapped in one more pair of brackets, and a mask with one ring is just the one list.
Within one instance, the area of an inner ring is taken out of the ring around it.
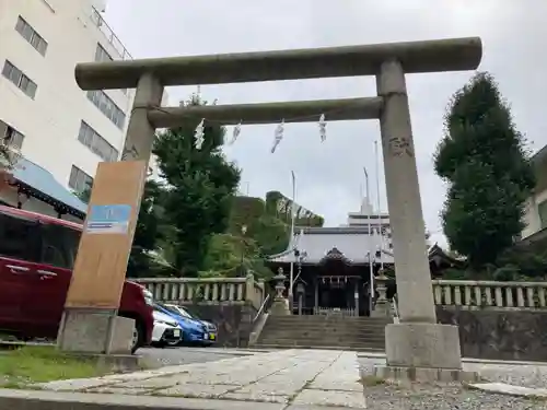
{"label": "shrine building with pale grey roof at top of the steps", "polygon": [[[462,265],[437,244],[423,251],[429,253],[432,278],[441,277],[446,268]],[[369,316],[370,266],[374,276],[382,268],[394,271],[388,214],[372,214],[372,207],[364,200],[361,212],[349,213],[348,225],[298,227],[287,250],[268,260],[274,272],[282,270],[287,289],[291,263],[293,314],[319,315],[337,311],[348,316]],[[393,279],[391,288],[388,293],[395,293]]]}

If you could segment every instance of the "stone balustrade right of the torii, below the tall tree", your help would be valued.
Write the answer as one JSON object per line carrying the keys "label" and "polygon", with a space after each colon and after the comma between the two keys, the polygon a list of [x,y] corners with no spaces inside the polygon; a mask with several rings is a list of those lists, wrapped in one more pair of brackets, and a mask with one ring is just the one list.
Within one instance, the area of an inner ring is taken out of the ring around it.
{"label": "stone balustrade right of the torii, below the tall tree", "polygon": [[467,308],[546,309],[547,282],[433,280],[437,305]]}

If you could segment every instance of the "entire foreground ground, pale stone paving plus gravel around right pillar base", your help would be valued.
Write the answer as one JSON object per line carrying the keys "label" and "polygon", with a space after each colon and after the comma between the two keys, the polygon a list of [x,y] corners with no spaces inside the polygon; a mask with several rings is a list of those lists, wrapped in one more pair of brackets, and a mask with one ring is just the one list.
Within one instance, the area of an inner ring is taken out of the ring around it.
{"label": "entire foreground ground, pale stone paving plus gravel around right pillar base", "polygon": [[[484,384],[470,389],[461,384],[416,383],[404,386],[384,383],[372,376],[374,365],[384,363],[385,359],[381,355],[363,358],[360,354],[358,358],[356,352],[348,351],[275,351],[218,362],[53,382],[36,386],[40,391],[0,390],[0,408],[34,410],[5,401],[19,398],[21,402],[22,398],[32,396],[36,400],[72,400],[95,406],[85,407],[88,410],[245,410],[247,407],[252,410],[251,406],[261,410],[325,407],[370,410],[547,409],[547,401],[539,394],[539,388],[547,385],[545,365],[480,361],[465,363],[464,367],[478,371],[487,378]],[[508,384],[521,388],[508,387]],[[56,405],[51,406],[46,408],[61,410]],[[67,407],[70,410],[78,408]]]}

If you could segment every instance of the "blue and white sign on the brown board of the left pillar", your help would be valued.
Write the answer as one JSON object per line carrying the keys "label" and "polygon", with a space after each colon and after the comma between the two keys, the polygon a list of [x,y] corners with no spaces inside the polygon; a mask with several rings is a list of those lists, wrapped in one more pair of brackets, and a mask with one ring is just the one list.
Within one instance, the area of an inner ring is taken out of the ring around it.
{"label": "blue and white sign on the brown board of the left pillar", "polygon": [[126,234],[131,219],[131,206],[91,206],[85,232],[90,234]]}

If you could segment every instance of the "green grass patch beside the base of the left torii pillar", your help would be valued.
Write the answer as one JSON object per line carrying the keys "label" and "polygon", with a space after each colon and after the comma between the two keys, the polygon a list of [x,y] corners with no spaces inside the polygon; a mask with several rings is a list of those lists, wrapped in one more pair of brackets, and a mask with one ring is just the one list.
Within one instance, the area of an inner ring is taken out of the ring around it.
{"label": "green grass patch beside the base of the left torii pillar", "polygon": [[102,376],[93,359],[75,358],[55,347],[23,347],[0,354],[0,387],[14,388],[32,383]]}

